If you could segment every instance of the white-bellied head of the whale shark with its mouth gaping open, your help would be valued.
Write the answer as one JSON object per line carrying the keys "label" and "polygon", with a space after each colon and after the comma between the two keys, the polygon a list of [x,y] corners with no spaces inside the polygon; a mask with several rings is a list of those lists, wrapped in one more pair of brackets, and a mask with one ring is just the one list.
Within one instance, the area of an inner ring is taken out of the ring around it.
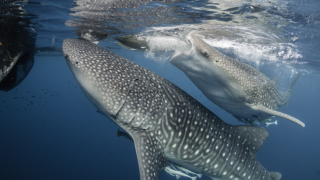
{"label": "white-bellied head of the whale shark with its mouth gaping open", "polygon": [[[232,94],[235,99],[230,102],[245,101],[244,86],[235,78],[241,74],[231,62],[233,59],[196,35],[189,35],[187,39],[191,48],[182,53],[175,52],[170,63],[182,70],[209,99],[218,99],[215,102],[225,101]],[[223,106],[219,103],[217,105]]]}

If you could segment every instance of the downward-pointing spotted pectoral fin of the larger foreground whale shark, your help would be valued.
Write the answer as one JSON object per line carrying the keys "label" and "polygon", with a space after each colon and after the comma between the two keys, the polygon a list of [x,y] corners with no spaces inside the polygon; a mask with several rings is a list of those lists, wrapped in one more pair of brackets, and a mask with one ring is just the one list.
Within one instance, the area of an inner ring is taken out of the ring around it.
{"label": "downward-pointing spotted pectoral fin of the larger foreground whale shark", "polygon": [[159,171],[168,165],[161,143],[154,133],[146,130],[130,133],[138,157],[140,180],[158,180]]}

